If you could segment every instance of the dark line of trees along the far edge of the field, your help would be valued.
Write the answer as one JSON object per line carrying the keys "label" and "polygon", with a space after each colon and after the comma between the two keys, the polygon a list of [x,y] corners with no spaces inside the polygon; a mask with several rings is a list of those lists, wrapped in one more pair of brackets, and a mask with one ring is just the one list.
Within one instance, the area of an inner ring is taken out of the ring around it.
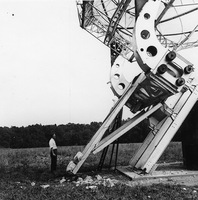
{"label": "dark line of trees along the far edge of the field", "polygon": [[[174,141],[181,141],[182,132],[189,132],[189,127],[193,132],[198,132],[198,127],[195,128],[194,123],[191,124],[192,119],[196,121],[197,109],[193,110],[188,120],[181,126],[175,137]],[[124,124],[127,120],[122,120]],[[27,127],[0,127],[0,147],[4,148],[34,148],[34,147],[47,147],[52,133],[57,135],[58,146],[73,146],[73,145],[86,145],[96,131],[100,128],[102,122],[91,122],[90,124],[74,124],[68,123],[66,125],[41,125],[35,124]],[[196,130],[195,130],[196,129]],[[136,127],[125,133],[119,138],[120,143],[137,143],[143,142],[150,131],[148,120],[144,120]],[[194,133],[193,133],[194,134]],[[107,134],[106,134],[107,135]],[[189,135],[189,133],[188,133]],[[198,137],[198,134],[194,134]],[[193,136],[194,137],[194,136]],[[192,137],[190,137],[192,138]],[[198,142],[198,138],[196,139]]]}

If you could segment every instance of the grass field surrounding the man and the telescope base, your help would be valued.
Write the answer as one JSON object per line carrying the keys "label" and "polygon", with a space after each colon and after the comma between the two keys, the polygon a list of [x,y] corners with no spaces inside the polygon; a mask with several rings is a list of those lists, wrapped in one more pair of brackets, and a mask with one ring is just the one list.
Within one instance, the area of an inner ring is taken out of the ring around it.
{"label": "grass field surrounding the man and the telescope base", "polygon": [[[119,146],[118,165],[127,165],[139,144]],[[155,184],[155,186],[136,185],[129,187],[123,181],[114,187],[99,185],[97,190],[86,189],[85,185],[76,186],[72,181],[60,183],[65,176],[68,162],[83,147],[59,147],[58,169],[56,176],[49,171],[50,157],[48,148],[1,149],[0,153],[0,199],[196,199],[198,186]],[[100,155],[90,155],[83,165],[80,176],[96,175],[94,171]],[[159,162],[182,161],[180,143],[171,143]],[[107,162],[108,163],[108,162]],[[99,173],[101,176],[126,180],[117,172]],[[67,178],[67,177],[66,177]],[[46,188],[44,187],[46,186]]]}

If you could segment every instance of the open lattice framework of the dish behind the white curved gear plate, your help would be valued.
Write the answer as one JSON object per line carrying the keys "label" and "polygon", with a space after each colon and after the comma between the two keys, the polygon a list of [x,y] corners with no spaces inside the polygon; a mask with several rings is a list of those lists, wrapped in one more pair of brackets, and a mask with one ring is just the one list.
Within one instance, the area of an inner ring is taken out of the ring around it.
{"label": "open lattice framework of the dish behind the white curved gear plate", "polygon": [[[111,48],[112,63],[118,55],[133,56],[135,3],[133,0],[77,1],[80,26]],[[176,51],[198,46],[197,0],[164,0],[156,20],[156,35]],[[189,23],[190,22],[190,23]],[[171,27],[171,29],[170,29]]]}

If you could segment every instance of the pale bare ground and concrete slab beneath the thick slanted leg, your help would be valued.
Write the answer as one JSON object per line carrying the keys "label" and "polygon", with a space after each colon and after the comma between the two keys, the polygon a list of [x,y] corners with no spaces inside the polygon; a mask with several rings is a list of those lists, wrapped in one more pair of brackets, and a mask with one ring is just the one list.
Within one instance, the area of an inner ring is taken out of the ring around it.
{"label": "pale bare ground and concrete slab beneath the thick slanted leg", "polygon": [[[198,186],[198,171],[185,170],[182,163],[179,162],[160,164],[151,174],[134,173],[134,171],[127,170],[127,167],[123,171],[102,171],[98,174],[95,172],[90,173],[89,176],[100,175],[104,179],[116,180],[131,187],[150,186],[152,184]],[[83,178],[87,176],[86,174],[83,175]]]}

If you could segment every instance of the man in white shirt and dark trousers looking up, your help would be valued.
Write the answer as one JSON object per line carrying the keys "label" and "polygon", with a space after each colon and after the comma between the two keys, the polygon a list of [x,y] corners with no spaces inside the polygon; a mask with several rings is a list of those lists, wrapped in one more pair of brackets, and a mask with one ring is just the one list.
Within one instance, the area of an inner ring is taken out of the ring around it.
{"label": "man in white shirt and dark trousers looking up", "polygon": [[51,157],[51,173],[54,173],[57,165],[57,146],[55,139],[56,139],[56,134],[53,133],[49,141],[50,157]]}

